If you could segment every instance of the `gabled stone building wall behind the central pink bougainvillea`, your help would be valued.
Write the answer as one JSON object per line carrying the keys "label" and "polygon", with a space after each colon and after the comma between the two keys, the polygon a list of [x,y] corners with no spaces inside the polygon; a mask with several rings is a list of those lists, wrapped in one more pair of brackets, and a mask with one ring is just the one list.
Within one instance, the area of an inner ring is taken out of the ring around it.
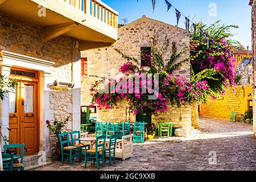
{"label": "gabled stone building wall behind the central pink bougainvillea", "polygon": [[[86,70],[86,74],[82,75],[82,106],[89,106],[92,102],[89,89],[97,78],[90,77],[90,75],[109,77],[112,73],[118,73],[119,68],[127,62],[127,60],[123,59],[114,49],[117,48],[124,55],[141,60],[141,50],[145,47],[150,47],[148,40],[152,38],[154,34],[159,35],[159,46],[162,46],[164,43],[166,35],[168,40],[170,40],[170,45],[166,51],[167,53],[163,57],[164,60],[170,58],[171,42],[177,43],[178,51],[189,48],[189,37],[184,29],[142,16],[142,18],[118,28],[118,40],[112,47],[82,52],[82,57],[86,60],[86,67],[82,68]],[[184,60],[187,57],[189,57],[189,52],[185,52],[184,55],[180,57],[180,60]],[[190,79],[189,65],[189,62],[184,63],[175,70],[174,75],[185,75]],[[126,112],[127,104],[125,102],[126,101],[121,101],[118,103],[118,110],[97,110],[97,120],[114,122],[126,121],[129,118],[129,113]],[[173,122],[174,127],[179,128],[176,130],[177,135],[188,136],[191,132],[191,106],[182,106],[181,108],[170,106],[170,111],[167,113],[149,117],[150,118],[146,119],[152,122]],[[194,114],[193,117],[195,117],[193,120],[196,126],[196,122],[198,123],[198,119],[196,119],[197,114]],[[136,121],[135,115],[130,114],[130,119],[133,122]]]}

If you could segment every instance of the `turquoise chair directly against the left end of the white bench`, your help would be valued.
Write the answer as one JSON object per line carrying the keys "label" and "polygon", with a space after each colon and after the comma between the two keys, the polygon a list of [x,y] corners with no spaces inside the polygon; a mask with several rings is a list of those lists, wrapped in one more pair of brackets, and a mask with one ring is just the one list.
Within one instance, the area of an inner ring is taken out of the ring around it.
{"label": "turquoise chair directly against the left end of the white bench", "polygon": [[109,158],[109,164],[112,166],[112,159],[115,164],[115,147],[117,146],[118,134],[110,135],[108,147],[105,147],[106,157]]}

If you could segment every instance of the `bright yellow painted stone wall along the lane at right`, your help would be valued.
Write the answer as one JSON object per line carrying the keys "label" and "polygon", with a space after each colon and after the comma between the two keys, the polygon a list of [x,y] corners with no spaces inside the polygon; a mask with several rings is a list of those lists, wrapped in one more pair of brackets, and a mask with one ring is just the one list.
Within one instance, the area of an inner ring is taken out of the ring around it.
{"label": "bright yellow painted stone wall along the lane at right", "polygon": [[253,100],[253,86],[236,86],[236,93],[232,89],[226,90],[222,99],[209,100],[200,105],[200,115],[210,118],[229,120],[231,111],[243,114],[248,110],[248,101]]}

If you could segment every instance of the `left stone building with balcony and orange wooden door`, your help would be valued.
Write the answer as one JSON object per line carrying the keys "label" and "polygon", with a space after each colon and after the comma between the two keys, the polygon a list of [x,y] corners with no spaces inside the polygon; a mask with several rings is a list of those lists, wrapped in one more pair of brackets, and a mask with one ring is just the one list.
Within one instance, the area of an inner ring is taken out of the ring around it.
{"label": "left stone building with balcony and orange wooden door", "polygon": [[0,1],[1,73],[18,79],[0,104],[0,126],[11,143],[25,144],[26,169],[51,163],[47,119],[70,116],[65,130],[80,130],[80,51],[113,44],[117,19],[100,0]]}

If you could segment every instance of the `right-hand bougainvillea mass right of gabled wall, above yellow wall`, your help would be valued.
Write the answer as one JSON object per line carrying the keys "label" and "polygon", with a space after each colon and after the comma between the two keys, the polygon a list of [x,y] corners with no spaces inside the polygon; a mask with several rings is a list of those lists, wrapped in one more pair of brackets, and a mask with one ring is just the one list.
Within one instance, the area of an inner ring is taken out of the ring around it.
{"label": "right-hand bougainvillea mass right of gabled wall, above yellow wall", "polygon": [[[211,24],[209,27],[203,23],[196,24],[200,31],[196,34],[191,28],[191,68],[195,75],[208,69],[208,72],[215,72],[212,76],[214,80],[206,78],[208,86],[216,95],[224,94],[228,87],[236,86],[234,53],[236,49],[241,49],[239,42],[232,40],[232,28],[238,26],[226,26],[220,24],[220,20]],[[208,35],[208,39],[207,39]]]}

